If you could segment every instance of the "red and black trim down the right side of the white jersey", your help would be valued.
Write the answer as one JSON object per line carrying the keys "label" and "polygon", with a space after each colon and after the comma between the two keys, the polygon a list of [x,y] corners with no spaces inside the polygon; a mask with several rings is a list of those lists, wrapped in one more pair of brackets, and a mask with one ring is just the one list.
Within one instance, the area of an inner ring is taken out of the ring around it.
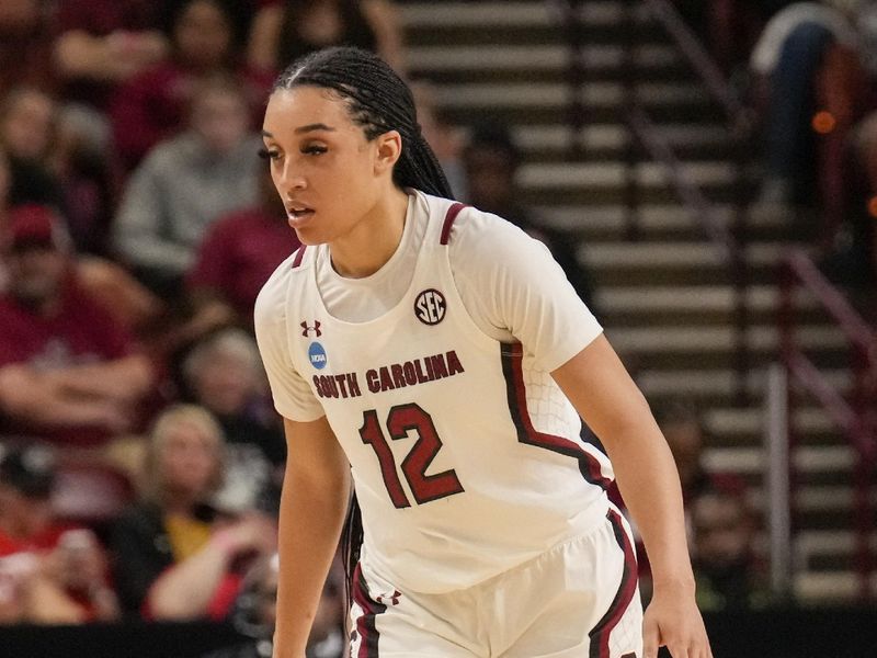
{"label": "red and black trim down the right side of the white jersey", "polygon": [[527,445],[544,447],[551,452],[567,455],[579,461],[579,470],[585,480],[608,489],[612,480],[603,475],[600,462],[585,451],[581,445],[554,434],[536,431],[527,410],[527,394],[524,385],[524,349],[521,343],[500,343],[502,354],[502,374],[505,377],[505,394],[509,400],[509,411],[517,430],[517,440]]}

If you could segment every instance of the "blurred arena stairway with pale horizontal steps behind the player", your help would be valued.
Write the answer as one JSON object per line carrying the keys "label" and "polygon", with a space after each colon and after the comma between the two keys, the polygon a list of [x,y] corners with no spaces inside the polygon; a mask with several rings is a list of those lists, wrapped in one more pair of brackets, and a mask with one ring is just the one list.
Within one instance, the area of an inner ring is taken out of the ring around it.
{"label": "blurred arena stairway with pale horizontal steps behind the player", "polygon": [[[636,164],[640,238],[626,239],[623,45],[631,24],[618,0],[583,3],[588,82],[580,92],[586,126],[567,123],[566,33],[550,2],[483,1],[400,4],[411,72],[435,83],[440,110],[458,125],[490,120],[513,127],[524,151],[519,184],[545,222],[579,245],[596,288],[607,336],[650,402],[686,396],[704,410],[709,468],[751,485],[763,509],[763,394],[777,361],[777,264],[799,240],[793,217],[750,218],[747,376],[751,405],[734,399],[733,288],[696,218],[681,205],[663,167]],[[719,107],[662,29],[641,19],[635,30],[636,94],[683,169],[730,222],[734,166]],[[570,159],[578,140],[580,156]],[[800,340],[842,388],[847,354],[813,299],[795,303]],[[853,451],[827,416],[804,400],[795,416],[801,489],[794,544],[795,593],[802,603],[842,602],[856,593],[852,524]],[[875,542],[877,543],[877,542]],[[762,535],[760,546],[765,549]]]}

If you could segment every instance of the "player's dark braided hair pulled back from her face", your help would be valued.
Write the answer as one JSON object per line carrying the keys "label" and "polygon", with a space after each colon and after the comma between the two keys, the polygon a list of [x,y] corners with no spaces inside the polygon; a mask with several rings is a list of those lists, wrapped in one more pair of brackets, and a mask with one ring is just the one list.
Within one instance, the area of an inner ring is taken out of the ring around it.
{"label": "player's dark braided hair pulled back from her face", "polygon": [[349,46],[316,50],[289,65],[274,82],[272,93],[305,86],[338,93],[369,141],[398,131],[402,154],[392,180],[399,188],[453,198],[442,166],[421,134],[411,90],[386,61]]}

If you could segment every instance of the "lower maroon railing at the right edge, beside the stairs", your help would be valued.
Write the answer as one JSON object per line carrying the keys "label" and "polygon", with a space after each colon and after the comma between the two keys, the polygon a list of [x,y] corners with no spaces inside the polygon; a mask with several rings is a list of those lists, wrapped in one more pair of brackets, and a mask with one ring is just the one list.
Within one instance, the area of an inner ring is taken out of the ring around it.
{"label": "lower maroon railing at the right edge, beside the stairs", "polygon": [[[853,389],[848,399],[831,385],[797,345],[794,300],[795,293],[799,290],[807,291],[819,300],[846,339],[853,373]],[[855,564],[859,597],[868,600],[874,594],[872,588],[874,555],[870,549],[870,536],[875,510],[870,492],[877,467],[877,333],[800,250],[791,251],[783,261],[781,295],[778,322],[783,363],[790,378],[816,398],[856,452]],[[796,443],[791,420],[794,409],[795,396],[789,394],[786,423],[791,449]],[[794,489],[794,472],[791,483]]]}

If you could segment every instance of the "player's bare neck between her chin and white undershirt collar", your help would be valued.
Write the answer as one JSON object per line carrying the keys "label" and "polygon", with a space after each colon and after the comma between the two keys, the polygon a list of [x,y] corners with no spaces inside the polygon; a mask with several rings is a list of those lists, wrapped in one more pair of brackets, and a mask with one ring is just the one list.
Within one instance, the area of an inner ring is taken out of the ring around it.
{"label": "player's bare neck between her chin and white undershirt collar", "polygon": [[335,272],[364,279],[383,268],[399,248],[407,213],[408,194],[394,188],[353,230],[329,245]]}

